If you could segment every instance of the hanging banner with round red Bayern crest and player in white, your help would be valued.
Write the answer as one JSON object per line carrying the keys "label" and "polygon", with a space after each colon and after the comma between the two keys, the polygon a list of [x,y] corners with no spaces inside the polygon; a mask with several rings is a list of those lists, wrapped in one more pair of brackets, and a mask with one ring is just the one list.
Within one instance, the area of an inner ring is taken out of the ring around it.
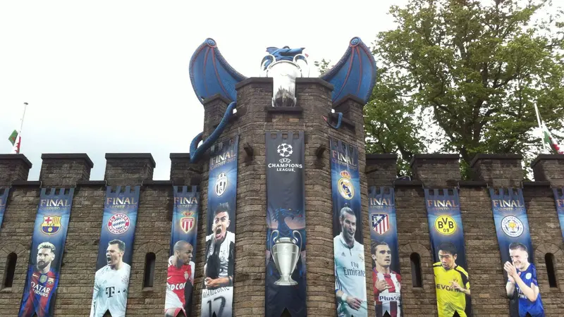
{"label": "hanging banner with round red Bayern crest and player in white", "polygon": [[[115,190],[114,190],[115,189]],[[140,187],[106,187],[90,317],[124,317]]]}

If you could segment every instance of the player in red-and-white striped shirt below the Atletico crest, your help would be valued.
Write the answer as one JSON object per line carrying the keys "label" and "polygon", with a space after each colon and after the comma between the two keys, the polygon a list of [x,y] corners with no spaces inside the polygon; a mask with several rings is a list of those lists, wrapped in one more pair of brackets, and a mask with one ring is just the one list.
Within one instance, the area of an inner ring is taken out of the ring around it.
{"label": "player in red-and-white striped shirt below the Atletico crest", "polygon": [[370,248],[374,268],[374,308],[376,317],[382,317],[386,311],[391,317],[401,316],[401,276],[390,270],[391,249],[386,242],[372,242]]}

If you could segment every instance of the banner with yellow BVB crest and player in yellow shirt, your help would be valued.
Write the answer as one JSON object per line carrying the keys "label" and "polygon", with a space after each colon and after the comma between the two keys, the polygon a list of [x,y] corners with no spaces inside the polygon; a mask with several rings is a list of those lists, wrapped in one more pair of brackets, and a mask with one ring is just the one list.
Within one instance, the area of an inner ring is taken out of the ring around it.
{"label": "banner with yellow BVB crest and player in yellow shirt", "polygon": [[458,189],[425,189],[439,317],[472,316]]}

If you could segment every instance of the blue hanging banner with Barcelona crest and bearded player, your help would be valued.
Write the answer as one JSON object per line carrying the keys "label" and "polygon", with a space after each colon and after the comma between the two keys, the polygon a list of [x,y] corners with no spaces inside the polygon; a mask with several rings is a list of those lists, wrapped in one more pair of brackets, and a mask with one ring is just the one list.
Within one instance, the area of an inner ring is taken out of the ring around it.
{"label": "blue hanging banner with Barcelona crest and bearded player", "polygon": [[19,317],[53,316],[74,188],[42,188]]}

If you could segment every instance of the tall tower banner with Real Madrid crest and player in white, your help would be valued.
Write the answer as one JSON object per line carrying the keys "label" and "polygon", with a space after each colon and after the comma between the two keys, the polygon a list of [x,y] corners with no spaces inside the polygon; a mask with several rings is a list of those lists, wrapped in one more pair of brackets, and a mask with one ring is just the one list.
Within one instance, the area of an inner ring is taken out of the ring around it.
{"label": "tall tower banner with Real Madrid crest and player in white", "polygon": [[337,316],[368,316],[358,149],[330,139]]}

